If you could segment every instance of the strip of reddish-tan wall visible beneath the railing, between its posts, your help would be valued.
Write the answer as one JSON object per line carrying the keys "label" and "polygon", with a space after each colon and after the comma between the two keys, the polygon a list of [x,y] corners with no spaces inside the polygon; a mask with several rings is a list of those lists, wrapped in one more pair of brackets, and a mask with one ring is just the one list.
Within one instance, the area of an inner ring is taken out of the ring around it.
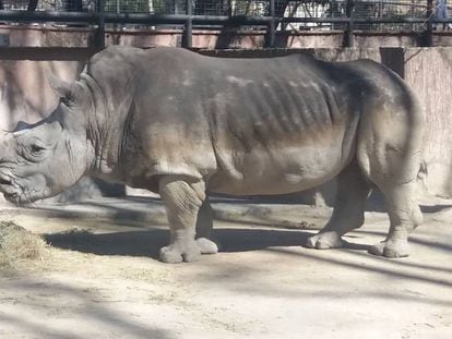
{"label": "strip of reddish-tan wall visible beneath the railing, between its posts", "polygon": [[[174,46],[180,47],[182,29],[107,29],[107,45],[127,45],[136,47]],[[8,47],[90,47],[94,41],[94,29],[61,27],[49,24],[0,26],[0,41]],[[197,49],[217,48],[262,48],[265,31],[230,29],[202,31],[193,29],[192,44]],[[342,31],[284,31],[276,32],[277,48],[338,48],[343,46]],[[433,46],[452,46],[451,31],[435,31]],[[381,33],[356,31],[356,48],[369,47],[417,47],[421,46],[423,36],[418,33]]]}

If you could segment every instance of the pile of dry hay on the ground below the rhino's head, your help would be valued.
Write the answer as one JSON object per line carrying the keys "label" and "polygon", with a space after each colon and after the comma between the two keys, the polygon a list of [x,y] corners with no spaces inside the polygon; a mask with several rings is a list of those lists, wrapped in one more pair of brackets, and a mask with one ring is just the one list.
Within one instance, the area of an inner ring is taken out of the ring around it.
{"label": "pile of dry hay on the ground below the rhino's head", "polygon": [[13,221],[0,221],[0,268],[20,268],[43,262],[49,247],[41,237]]}

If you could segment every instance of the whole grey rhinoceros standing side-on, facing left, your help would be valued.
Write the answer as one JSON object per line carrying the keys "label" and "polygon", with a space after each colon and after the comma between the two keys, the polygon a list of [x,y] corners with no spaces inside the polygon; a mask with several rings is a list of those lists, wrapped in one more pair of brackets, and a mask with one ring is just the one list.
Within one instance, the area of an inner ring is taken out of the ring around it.
{"label": "whole grey rhinoceros standing side-on, facing left", "polygon": [[55,111],[2,141],[0,190],[11,202],[58,194],[86,174],[157,192],[170,226],[160,259],[179,263],[217,252],[210,227],[197,234],[197,222],[211,223],[209,194],[275,195],[336,178],[331,220],[306,246],[341,246],[378,187],[390,228],[369,252],[408,255],[421,222],[424,116],[377,62],[110,47],[78,81],[50,83],[61,97]]}

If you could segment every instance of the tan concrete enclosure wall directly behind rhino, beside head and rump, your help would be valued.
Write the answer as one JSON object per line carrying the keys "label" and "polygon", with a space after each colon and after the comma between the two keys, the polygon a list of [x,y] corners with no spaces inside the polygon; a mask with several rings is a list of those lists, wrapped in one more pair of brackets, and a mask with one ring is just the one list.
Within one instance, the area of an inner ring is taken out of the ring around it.
{"label": "tan concrete enclosure wall directly behind rhino, beside head and rump", "polygon": [[[0,50],[0,129],[11,130],[17,120],[36,121],[48,114],[58,98],[47,85],[45,72],[73,80],[88,49],[5,49]],[[322,60],[373,59],[392,68],[415,89],[426,110],[426,186],[431,194],[452,196],[452,48],[317,48],[277,50],[202,50],[224,58],[274,57],[309,53]],[[305,195],[312,203],[325,194]],[[312,192],[311,192],[312,193]],[[90,193],[92,194],[92,193]]]}

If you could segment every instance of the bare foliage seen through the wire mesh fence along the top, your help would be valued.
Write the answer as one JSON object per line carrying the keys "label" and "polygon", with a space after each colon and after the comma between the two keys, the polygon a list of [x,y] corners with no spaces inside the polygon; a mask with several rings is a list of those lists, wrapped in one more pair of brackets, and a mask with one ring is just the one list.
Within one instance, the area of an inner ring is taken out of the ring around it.
{"label": "bare foliage seen through the wire mesh fence along the top", "polygon": [[[229,15],[261,17],[271,15],[270,0],[189,0],[193,15]],[[187,14],[188,0],[104,0],[107,13]],[[98,0],[0,0],[0,9],[17,11],[94,12]],[[274,0],[277,17],[353,17],[391,19],[427,17],[428,0]],[[347,13],[349,7],[349,13]],[[435,12],[435,11],[433,11]],[[304,22],[279,25],[278,29],[343,29],[344,24]],[[415,24],[359,23],[355,29],[419,29]]]}

